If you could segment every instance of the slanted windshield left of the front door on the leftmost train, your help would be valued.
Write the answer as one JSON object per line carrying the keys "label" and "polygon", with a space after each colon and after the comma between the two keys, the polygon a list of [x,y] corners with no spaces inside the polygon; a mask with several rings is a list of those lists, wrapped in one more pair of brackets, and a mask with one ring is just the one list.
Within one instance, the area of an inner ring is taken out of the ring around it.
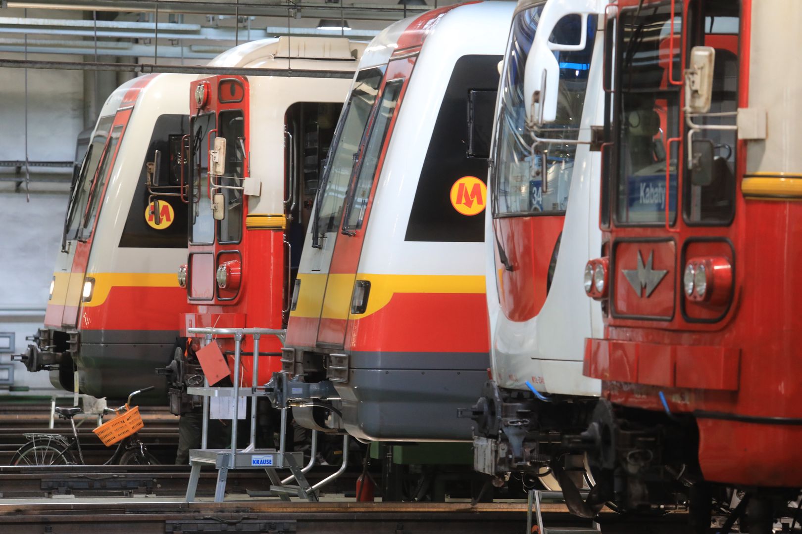
{"label": "slanted windshield left of the front door on the leftmost train", "polygon": [[114,155],[116,140],[119,139],[117,131],[112,136],[113,143],[110,143],[113,146],[107,149],[109,130],[114,117],[113,114],[101,117],[95,127],[95,135],[89,143],[78,179],[71,192],[64,224],[64,240],[84,239],[91,233],[91,215],[97,212],[108,165]]}

